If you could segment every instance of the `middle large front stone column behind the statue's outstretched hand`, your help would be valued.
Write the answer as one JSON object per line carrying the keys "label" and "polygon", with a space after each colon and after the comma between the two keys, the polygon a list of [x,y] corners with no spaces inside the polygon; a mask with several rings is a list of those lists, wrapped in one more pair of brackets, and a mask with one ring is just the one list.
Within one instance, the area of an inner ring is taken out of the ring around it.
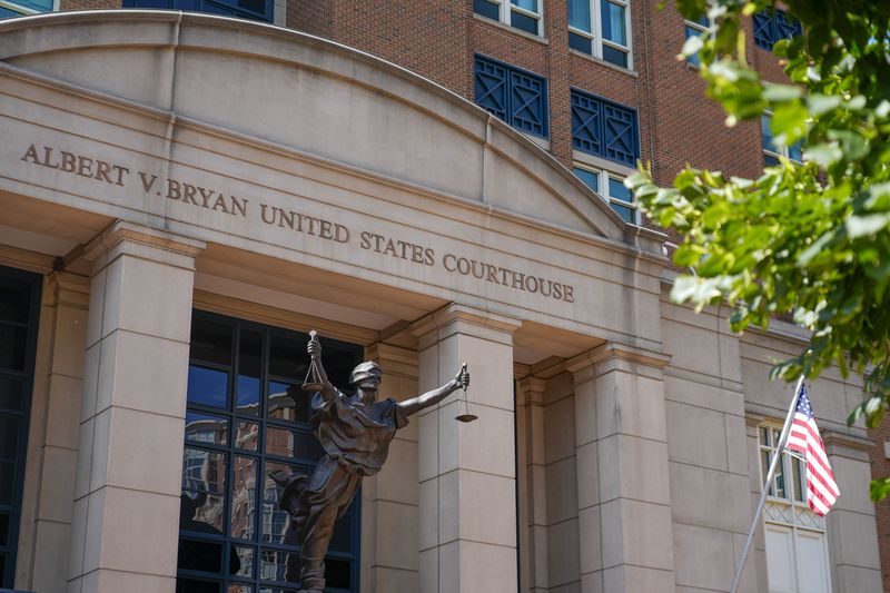
{"label": "middle large front stone column behind the statue's outstretched hand", "polygon": [[[471,409],[458,393],[423,411],[419,429],[419,547],[423,593],[515,593],[516,492],[513,333],[518,322],[448,305],[412,326],[419,339],[421,392],[469,367]],[[462,411],[463,412],[463,411]]]}

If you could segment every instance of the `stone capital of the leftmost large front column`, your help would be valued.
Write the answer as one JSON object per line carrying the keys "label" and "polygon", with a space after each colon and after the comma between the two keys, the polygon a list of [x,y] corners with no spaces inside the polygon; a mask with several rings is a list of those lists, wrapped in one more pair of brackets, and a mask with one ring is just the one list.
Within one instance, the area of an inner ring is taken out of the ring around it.
{"label": "stone capital of the leftmost large front column", "polygon": [[92,263],[93,274],[121,255],[194,270],[195,257],[205,247],[201,240],[117,220],[87,245],[83,257]]}

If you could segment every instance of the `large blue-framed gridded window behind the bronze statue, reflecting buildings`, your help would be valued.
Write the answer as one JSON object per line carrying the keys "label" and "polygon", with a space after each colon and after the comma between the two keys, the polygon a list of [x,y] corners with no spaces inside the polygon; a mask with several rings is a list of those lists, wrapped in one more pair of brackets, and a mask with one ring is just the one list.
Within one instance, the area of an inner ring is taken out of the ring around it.
{"label": "large blue-framed gridded window behind the bronze statue, reflecting buildings", "polygon": [[[191,325],[178,593],[296,593],[286,577],[299,548],[286,541],[277,471],[310,474],[322,446],[309,428],[308,336],[195,312]],[[325,369],[348,385],[362,347],[322,340]],[[359,502],[337,521],[325,591],[358,591]]]}

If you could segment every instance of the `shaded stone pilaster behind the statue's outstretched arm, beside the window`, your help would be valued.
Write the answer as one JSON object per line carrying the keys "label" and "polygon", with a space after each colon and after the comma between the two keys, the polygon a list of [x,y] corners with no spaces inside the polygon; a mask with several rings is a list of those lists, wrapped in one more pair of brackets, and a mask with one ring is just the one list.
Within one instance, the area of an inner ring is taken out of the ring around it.
{"label": "shaded stone pilaster behind the statue's outstretched arm, beside the window", "polygon": [[[366,359],[380,365],[378,399],[417,395],[417,353],[373,344]],[[362,483],[362,591],[417,593],[417,418],[389,444],[379,474]]]}

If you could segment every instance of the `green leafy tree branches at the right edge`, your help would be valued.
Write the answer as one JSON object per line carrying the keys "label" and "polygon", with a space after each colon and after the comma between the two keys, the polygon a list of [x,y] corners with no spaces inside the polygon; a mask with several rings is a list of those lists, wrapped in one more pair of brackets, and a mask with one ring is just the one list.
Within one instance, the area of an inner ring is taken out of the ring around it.
{"label": "green leafy tree branches at the right edge", "polygon": [[[848,422],[877,426],[890,404],[890,2],[785,0],[803,34],[775,43],[789,83],[765,81],[745,58],[744,18],[771,0],[678,0],[713,32],[692,37],[706,92],[726,122],[772,112],[779,147],[803,144],[803,162],[781,158],[758,179],[686,167],[659,188],[642,169],[627,179],[644,211],[684,240],[678,266],[694,274],[678,302],[735,304],[734,330],[767,328],[780,314],[812,330],[810,343],[773,369],[793,380],[837,364],[864,377]],[[872,496],[890,478],[872,483]]]}

